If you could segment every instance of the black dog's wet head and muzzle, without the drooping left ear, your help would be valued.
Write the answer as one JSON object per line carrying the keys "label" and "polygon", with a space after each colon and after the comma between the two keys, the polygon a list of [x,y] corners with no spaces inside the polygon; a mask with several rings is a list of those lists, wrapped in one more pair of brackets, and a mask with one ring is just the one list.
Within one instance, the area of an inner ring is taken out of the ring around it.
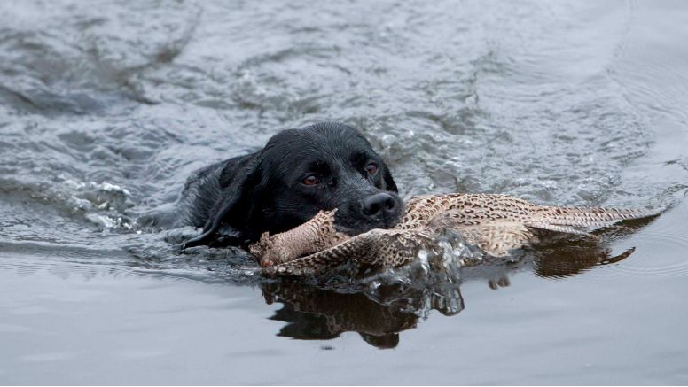
{"label": "black dog's wet head and muzzle, without the drooping left ear", "polygon": [[340,123],[285,130],[263,150],[261,200],[265,220],[293,228],[320,210],[337,208],[350,234],[390,228],[402,201],[392,174],[371,144]]}

